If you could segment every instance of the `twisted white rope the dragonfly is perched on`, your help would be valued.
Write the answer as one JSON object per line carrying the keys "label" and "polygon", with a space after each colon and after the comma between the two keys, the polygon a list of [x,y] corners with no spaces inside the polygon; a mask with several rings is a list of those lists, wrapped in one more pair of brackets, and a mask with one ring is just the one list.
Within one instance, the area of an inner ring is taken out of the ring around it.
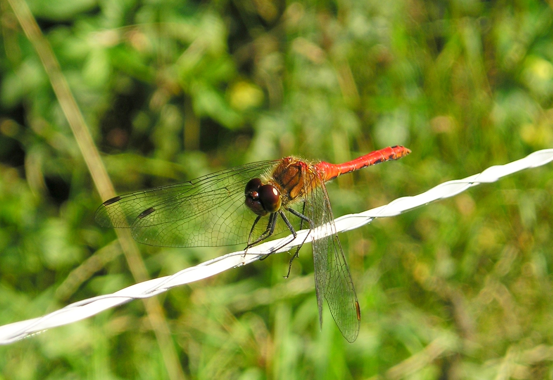
{"label": "twisted white rope the dragonfly is perched on", "polygon": [[[372,210],[364,211],[359,214],[341,216],[335,220],[336,230],[338,232],[353,230],[354,228],[370,223],[374,218],[399,215],[402,212],[425,205],[429,202],[457,195],[472,186],[481,183],[492,183],[506,175],[516,173],[523,169],[545,165],[552,160],[553,149],[538,150],[520,160],[505,165],[491,166],[482,171],[482,173],[474,174],[460,180],[447,181],[419,195],[401,197],[393,200],[387,205],[376,207]],[[330,231],[330,229],[322,228],[322,231]],[[307,233],[307,230],[299,231],[295,240],[276,252],[289,251],[291,247],[297,246],[304,241],[306,237],[309,238],[309,236],[306,236]],[[195,267],[183,269],[170,276],[148,280],[121,289],[113,294],[101,295],[67,305],[65,308],[39,318],[0,326],[0,344],[6,345],[35,334],[36,332],[50,329],[51,327],[67,325],[71,322],[85,319],[103,310],[127,303],[133,299],[148,298],[163,293],[178,285],[191,283],[233,267],[249,264],[265,254],[272,252],[272,248],[276,247],[279,242],[283,242],[289,238],[290,237],[285,237],[259,244],[259,246],[250,248],[245,256],[242,251],[229,253],[198,264]]]}

